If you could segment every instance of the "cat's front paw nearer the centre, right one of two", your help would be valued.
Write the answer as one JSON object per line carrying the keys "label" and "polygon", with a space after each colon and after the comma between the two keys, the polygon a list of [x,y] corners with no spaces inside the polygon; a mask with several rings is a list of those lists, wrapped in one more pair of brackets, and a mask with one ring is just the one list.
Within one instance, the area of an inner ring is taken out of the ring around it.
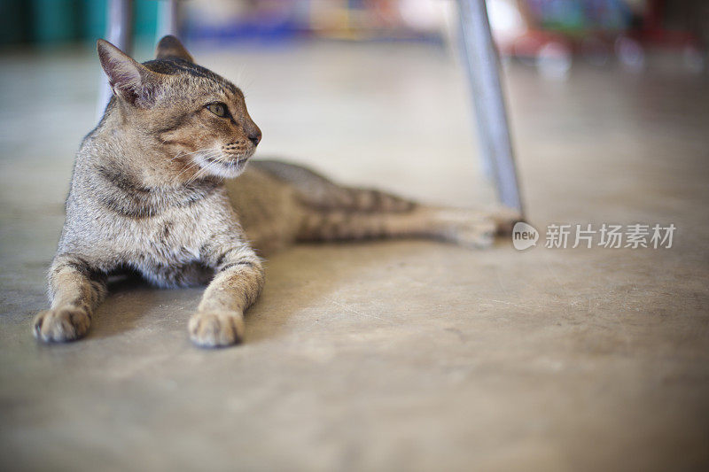
{"label": "cat's front paw nearer the centre, right one of two", "polygon": [[244,338],[244,315],[238,312],[197,312],[188,325],[190,338],[200,347],[222,347],[241,343]]}

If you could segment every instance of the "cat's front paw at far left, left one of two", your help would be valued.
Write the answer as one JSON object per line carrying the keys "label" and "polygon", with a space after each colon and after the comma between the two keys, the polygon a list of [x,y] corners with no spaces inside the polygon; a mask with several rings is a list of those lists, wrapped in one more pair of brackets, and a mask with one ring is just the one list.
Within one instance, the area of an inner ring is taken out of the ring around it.
{"label": "cat's front paw at far left, left one of two", "polygon": [[66,343],[83,337],[90,325],[91,317],[83,308],[67,306],[38,313],[32,331],[45,343]]}

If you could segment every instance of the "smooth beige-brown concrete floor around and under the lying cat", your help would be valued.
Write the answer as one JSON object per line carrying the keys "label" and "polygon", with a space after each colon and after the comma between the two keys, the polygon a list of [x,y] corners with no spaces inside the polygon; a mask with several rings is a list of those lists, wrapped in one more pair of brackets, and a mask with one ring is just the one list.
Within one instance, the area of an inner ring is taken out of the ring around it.
{"label": "smooth beige-brown concrete floor around and under the lying cat", "polygon": [[[261,155],[442,204],[493,200],[445,50],[193,52],[245,89]],[[30,334],[97,77],[85,50],[0,57],[3,469],[709,466],[705,79],[508,70],[537,228],[672,222],[673,248],[300,246],[269,260],[246,343],[202,351],[186,332],[201,290],[133,282],[82,342]]]}

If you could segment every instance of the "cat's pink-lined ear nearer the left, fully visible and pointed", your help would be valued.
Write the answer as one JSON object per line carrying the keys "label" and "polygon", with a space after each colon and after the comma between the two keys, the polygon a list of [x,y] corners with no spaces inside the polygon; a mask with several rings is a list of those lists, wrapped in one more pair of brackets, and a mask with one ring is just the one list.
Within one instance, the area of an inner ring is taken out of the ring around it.
{"label": "cat's pink-lined ear nearer the left, fully visible and pointed", "polygon": [[133,58],[124,54],[113,44],[99,39],[97,42],[98,59],[108,75],[108,83],[116,97],[121,97],[129,104],[145,106],[152,103],[156,89],[160,84],[160,74],[155,74]]}

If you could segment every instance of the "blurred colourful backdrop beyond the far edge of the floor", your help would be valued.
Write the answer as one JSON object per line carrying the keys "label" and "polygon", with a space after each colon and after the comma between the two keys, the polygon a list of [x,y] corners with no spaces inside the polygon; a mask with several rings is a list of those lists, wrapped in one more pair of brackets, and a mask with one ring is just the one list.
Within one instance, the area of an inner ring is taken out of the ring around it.
{"label": "blurred colourful backdrop beyond the far edge of the floor", "polygon": [[[93,43],[105,35],[104,0],[3,0],[0,46]],[[306,39],[449,43],[456,9],[447,0],[185,0],[187,41],[289,43]],[[151,43],[160,0],[136,0],[133,33]],[[573,59],[642,70],[648,54],[677,54],[701,72],[709,5],[701,0],[488,0],[504,56],[567,74]],[[553,64],[552,64],[553,63]]]}

